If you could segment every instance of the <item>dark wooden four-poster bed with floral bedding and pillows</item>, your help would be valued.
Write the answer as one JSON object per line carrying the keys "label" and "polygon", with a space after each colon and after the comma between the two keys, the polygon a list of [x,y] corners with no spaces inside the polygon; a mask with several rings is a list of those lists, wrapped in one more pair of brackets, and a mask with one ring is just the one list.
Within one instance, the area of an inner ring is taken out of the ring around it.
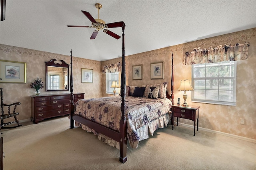
{"label": "dark wooden four-poster bed with floral bedding and pillows", "polygon": [[[148,133],[153,135],[157,128],[167,126],[170,120],[170,107],[174,104],[174,78],[172,55],[172,79],[171,96],[166,92],[167,82],[158,85],[145,85],[144,90],[150,88],[159,89],[159,96],[155,99],[146,97],[128,96],[130,87],[126,86],[125,55],[124,55],[124,28],[122,23],[122,72],[121,95],[116,97],[103,97],[98,99],[82,99],[74,104],[72,51],[70,71],[70,128],[76,125],[84,130],[92,131],[106,143],[120,148],[120,162],[127,161],[127,140],[132,148],[138,146],[138,142],[148,138]],[[156,88],[157,87],[157,88]],[[159,87],[159,88],[158,88]],[[129,88],[128,91],[126,91]],[[133,91],[135,93],[136,91]],[[154,91],[154,89],[152,89]],[[151,91],[151,89],[150,89]],[[161,93],[160,93],[161,91]],[[148,93],[144,93],[144,96]],[[160,96],[161,94],[161,96]],[[128,97],[127,97],[128,96]]]}

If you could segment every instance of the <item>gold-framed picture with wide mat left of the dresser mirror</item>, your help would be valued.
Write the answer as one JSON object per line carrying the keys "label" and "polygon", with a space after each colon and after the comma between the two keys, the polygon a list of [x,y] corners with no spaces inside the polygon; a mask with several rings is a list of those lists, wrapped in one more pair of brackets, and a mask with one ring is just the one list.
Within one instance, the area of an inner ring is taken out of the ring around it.
{"label": "gold-framed picture with wide mat left of the dresser mirror", "polygon": [[26,63],[0,60],[0,83],[26,83]]}

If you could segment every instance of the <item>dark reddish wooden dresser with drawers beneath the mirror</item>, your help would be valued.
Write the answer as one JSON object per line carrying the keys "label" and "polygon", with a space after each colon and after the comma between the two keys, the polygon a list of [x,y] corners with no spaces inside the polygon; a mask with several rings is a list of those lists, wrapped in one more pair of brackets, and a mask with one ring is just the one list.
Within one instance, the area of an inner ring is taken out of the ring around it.
{"label": "dark reddish wooden dresser with drawers beneath the mirror", "polygon": [[[74,103],[84,99],[84,93],[73,93]],[[70,113],[70,93],[31,96],[31,121],[38,123],[46,118]]]}

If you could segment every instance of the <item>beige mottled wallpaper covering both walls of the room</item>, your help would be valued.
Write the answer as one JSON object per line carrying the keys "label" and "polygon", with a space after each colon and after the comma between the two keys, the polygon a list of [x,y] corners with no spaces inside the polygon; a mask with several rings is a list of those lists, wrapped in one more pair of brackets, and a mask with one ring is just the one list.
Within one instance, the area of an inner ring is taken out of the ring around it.
{"label": "beige mottled wallpaper covering both walls of the room", "polygon": [[[167,90],[170,91],[171,80],[171,55],[174,54],[174,102],[177,103],[178,97],[183,102],[183,92],[178,91],[181,79],[191,80],[191,65],[183,65],[182,58],[186,51],[191,51],[195,47],[208,48],[217,45],[235,44],[249,42],[249,57],[247,60],[237,62],[237,84],[236,84],[236,106],[212,105],[204,103],[191,103],[191,92],[188,91],[187,102],[191,105],[200,106],[199,127],[217,130],[229,134],[239,135],[247,138],[256,139],[256,28],[225,34],[204,40],[184,43],[153,51],[147,51],[135,55],[126,56],[126,85],[146,85],[156,84],[167,81]],[[74,53],[73,53],[74,54]],[[122,51],[120,50],[120,54]],[[29,119],[31,107],[30,95],[34,95],[34,89],[30,88],[30,83],[39,76],[45,80],[44,61],[50,59],[64,60],[70,63],[70,53],[59,55],[32,49],[23,49],[8,45],[0,45],[0,59],[21,61],[27,63],[27,83],[26,84],[6,84],[0,83],[0,86],[8,89],[8,96],[5,96],[5,103],[20,101],[19,119]],[[108,61],[93,61],[74,57],[74,92],[85,93],[85,98],[111,96],[106,94],[106,77],[102,74],[102,65],[121,62],[122,58],[116,58]],[[150,63],[164,61],[164,79],[151,80]],[[142,80],[132,80],[132,66],[142,64]],[[80,83],[80,69],[94,69],[93,83]],[[41,94],[62,93],[46,92],[41,89]],[[64,93],[64,92],[63,92]],[[6,92],[4,93],[6,94]],[[245,125],[239,124],[239,118],[245,119]],[[192,121],[184,120],[183,123],[193,125]],[[200,129],[200,128],[199,128]]]}

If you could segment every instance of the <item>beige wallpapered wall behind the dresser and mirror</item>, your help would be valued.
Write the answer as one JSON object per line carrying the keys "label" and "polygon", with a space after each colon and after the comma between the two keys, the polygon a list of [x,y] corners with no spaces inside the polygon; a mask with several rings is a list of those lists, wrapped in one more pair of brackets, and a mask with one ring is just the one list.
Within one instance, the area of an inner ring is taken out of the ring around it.
{"label": "beige wallpapered wall behind the dresser and mirror", "polygon": [[[74,55],[75,51],[73,52]],[[89,59],[82,59],[73,56],[73,80],[74,80],[74,93],[85,93],[85,98],[101,97],[101,84],[102,84],[102,67],[100,61]],[[35,89],[30,88],[31,82],[37,77],[42,78],[45,83],[46,80],[46,65],[44,61],[51,59],[64,60],[70,64],[70,51],[67,55],[60,55],[56,53],[49,53],[44,51],[36,51],[33,49],[25,49],[20,47],[13,47],[10,45],[0,44],[0,59],[8,61],[25,62],[26,68],[26,84],[19,83],[0,83],[3,88],[4,103],[10,104],[20,102],[21,105],[17,107],[18,119],[27,120],[31,117],[31,95],[35,95]],[[93,69],[93,83],[81,83],[81,68]],[[46,94],[63,94],[70,93],[70,91],[45,91],[45,87],[40,89],[41,95]],[[8,118],[9,119],[9,118]],[[10,118],[13,119],[13,118]],[[6,120],[7,121],[7,120]]]}

